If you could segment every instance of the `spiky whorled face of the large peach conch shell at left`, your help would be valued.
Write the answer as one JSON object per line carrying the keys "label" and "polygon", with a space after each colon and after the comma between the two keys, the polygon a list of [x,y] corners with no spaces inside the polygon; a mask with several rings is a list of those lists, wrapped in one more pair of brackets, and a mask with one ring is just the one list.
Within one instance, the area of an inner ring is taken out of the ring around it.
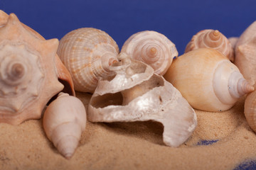
{"label": "spiky whorled face of the large peach conch shell at left", "polygon": [[2,23],[0,122],[18,125],[24,120],[41,118],[46,103],[63,89],[55,69],[57,48],[57,39],[36,38],[14,13],[7,23]]}

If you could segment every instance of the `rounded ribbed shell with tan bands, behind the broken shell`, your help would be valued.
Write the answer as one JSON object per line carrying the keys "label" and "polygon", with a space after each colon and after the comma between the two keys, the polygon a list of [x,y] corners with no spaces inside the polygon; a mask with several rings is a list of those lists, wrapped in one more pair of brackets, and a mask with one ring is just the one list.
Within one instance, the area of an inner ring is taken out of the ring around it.
{"label": "rounded ribbed shell with tan bands, behind the broken shell", "polygon": [[110,74],[119,49],[104,31],[79,28],[60,40],[57,53],[71,74],[75,90],[93,93],[98,79]]}

